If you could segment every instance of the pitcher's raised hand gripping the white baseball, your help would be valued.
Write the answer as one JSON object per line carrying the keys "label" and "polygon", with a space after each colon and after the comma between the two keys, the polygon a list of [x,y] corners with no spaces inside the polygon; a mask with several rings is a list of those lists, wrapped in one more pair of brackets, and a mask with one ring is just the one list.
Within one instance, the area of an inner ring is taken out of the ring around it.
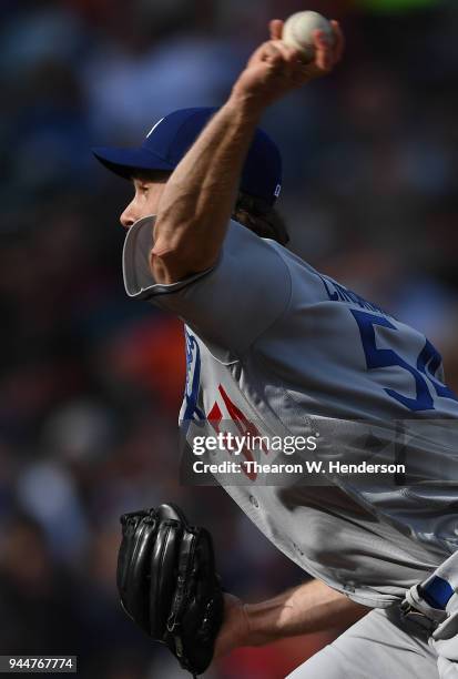
{"label": "pitcher's raised hand gripping the white baseball", "polygon": [[329,40],[324,31],[314,31],[315,58],[304,63],[301,52],[282,41],[283,23],[279,19],[271,21],[271,40],[257,48],[234,84],[234,94],[248,99],[259,108],[315,78],[326,75],[344,52],[340,27],[337,21],[332,21],[334,40]]}

